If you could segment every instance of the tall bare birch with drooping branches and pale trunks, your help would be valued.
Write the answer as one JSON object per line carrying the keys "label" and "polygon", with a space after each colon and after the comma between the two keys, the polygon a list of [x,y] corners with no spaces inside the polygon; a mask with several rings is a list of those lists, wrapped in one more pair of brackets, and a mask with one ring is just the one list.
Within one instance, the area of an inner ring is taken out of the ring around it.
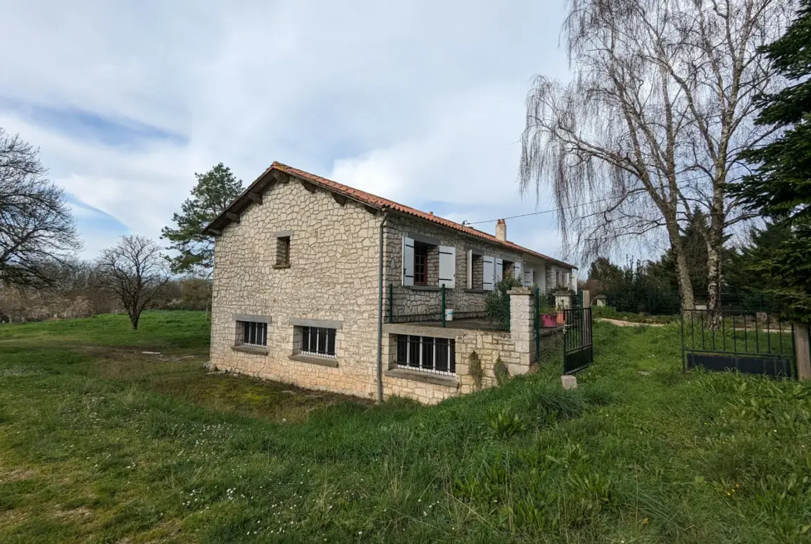
{"label": "tall bare birch with drooping branches and pale trunks", "polygon": [[746,169],[740,152],[770,136],[753,99],[781,84],[757,48],[791,14],[790,0],[570,0],[573,80],[535,79],[519,175],[523,191],[551,186],[569,248],[593,258],[664,235],[692,307],[682,236],[703,212],[717,308],[725,230],[751,217],[725,186]]}

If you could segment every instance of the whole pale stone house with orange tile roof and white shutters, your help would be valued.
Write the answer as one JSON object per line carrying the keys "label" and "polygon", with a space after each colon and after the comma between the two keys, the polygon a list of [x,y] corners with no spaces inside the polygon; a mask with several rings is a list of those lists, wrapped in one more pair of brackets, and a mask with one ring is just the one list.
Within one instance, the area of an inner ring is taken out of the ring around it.
{"label": "whole pale stone house with orange tile roof and white shutters", "polygon": [[450,308],[482,311],[504,276],[577,286],[571,264],[508,242],[503,220],[493,236],[276,162],[206,232],[212,365],[379,400],[438,402],[486,386],[497,358],[513,373],[534,363],[534,289],[511,296],[508,331],[462,315],[436,326],[440,291]]}

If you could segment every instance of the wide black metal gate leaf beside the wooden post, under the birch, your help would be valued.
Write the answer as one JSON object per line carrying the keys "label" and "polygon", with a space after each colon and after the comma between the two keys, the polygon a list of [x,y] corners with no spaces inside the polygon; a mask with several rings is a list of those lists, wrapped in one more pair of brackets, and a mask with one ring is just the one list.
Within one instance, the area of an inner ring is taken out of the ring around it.
{"label": "wide black metal gate leaf beside the wooden post, under the birch", "polygon": [[767,312],[683,310],[681,358],[685,371],[702,366],[708,371],[796,377],[794,325]]}

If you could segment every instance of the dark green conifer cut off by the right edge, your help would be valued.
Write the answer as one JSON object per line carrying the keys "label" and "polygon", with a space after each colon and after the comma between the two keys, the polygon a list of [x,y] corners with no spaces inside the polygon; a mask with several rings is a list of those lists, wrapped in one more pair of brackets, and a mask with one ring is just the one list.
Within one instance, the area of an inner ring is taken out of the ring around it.
{"label": "dark green conifer cut off by the right edge", "polygon": [[783,317],[811,322],[811,0],[802,0],[787,32],[764,48],[792,84],[763,96],[757,123],[783,131],[750,150],[755,172],[733,187],[749,208],[770,216],[790,233],[753,270],[768,277]]}

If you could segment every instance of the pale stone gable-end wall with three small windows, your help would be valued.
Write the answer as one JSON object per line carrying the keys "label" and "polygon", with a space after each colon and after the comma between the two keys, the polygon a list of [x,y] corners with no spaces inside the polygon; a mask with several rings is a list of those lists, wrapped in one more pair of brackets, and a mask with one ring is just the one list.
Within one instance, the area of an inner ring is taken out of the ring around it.
{"label": "pale stone gable-end wall with three small windows", "polygon": [[[328,191],[277,183],[263,203],[217,237],[211,361],[217,368],[366,398],[376,395],[380,214]],[[290,268],[277,263],[277,235],[290,233]],[[267,353],[234,349],[234,315],[269,320]],[[304,362],[290,319],[340,323],[336,358]],[[323,364],[319,364],[323,363]],[[335,366],[337,364],[337,366]]]}

